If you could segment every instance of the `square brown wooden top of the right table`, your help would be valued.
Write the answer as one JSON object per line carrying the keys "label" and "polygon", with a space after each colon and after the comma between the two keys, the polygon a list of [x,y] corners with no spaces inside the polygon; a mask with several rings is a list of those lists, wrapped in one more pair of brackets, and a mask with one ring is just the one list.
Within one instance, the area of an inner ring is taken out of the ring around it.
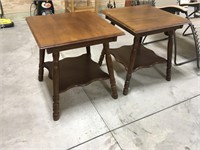
{"label": "square brown wooden top of the right table", "polygon": [[103,13],[108,19],[119,23],[133,34],[174,28],[189,23],[189,20],[148,5],[107,9]]}

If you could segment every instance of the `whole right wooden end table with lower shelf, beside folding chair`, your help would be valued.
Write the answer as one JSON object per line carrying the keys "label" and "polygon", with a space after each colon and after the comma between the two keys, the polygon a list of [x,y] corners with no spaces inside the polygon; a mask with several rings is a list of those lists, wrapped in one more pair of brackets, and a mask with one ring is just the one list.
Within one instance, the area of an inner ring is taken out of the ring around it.
{"label": "whole right wooden end table with lower shelf, beside folding chair", "polygon": [[[104,10],[106,18],[111,24],[118,25],[133,35],[133,45],[111,49],[110,53],[116,61],[125,66],[127,70],[123,94],[128,94],[130,78],[133,71],[139,68],[150,67],[157,63],[167,63],[166,80],[171,80],[171,59],[173,48],[173,35],[176,29],[188,24],[189,20],[165,12],[149,5],[131,6],[124,8]],[[142,38],[148,35],[162,33],[168,35],[167,58],[164,59],[150,49],[144,47]],[[100,57],[99,64],[102,63]]]}

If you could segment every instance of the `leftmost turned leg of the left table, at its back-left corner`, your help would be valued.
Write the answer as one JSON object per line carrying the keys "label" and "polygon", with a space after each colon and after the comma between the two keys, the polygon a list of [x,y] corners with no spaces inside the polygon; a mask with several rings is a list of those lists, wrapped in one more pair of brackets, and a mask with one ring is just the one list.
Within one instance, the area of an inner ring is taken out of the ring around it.
{"label": "leftmost turned leg of the left table, at its back-left corner", "polygon": [[45,49],[40,49],[39,50],[39,71],[38,71],[38,80],[39,81],[43,81],[44,56],[45,56]]}

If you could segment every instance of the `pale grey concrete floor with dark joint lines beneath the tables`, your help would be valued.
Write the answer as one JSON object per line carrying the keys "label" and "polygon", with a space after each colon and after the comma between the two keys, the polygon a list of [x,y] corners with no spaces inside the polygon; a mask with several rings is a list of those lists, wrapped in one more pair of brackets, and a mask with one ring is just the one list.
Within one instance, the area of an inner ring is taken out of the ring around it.
{"label": "pale grey concrete floor with dark joint lines beneath the tables", "polygon": [[[0,30],[0,149],[2,150],[199,150],[200,76],[196,62],[172,65],[165,80],[165,64],[132,75],[130,92],[122,94],[126,72],[115,62],[119,98],[110,96],[109,81],[97,81],[60,94],[61,117],[52,119],[52,82],[45,70],[37,80],[38,47],[24,19]],[[194,56],[192,38],[178,32],[179,60]],[[147,40],[162,35],[148,37]],[[111,47],[132,44],[126,33]],[[149,44],[166,57],[166,41]],[[92,47],[98,61],[102,45]],[[61,59],[85,49],[61,53]],[[46,60],[52,60],[46,55]],[[105,62],[102,69],[106,70]]]}

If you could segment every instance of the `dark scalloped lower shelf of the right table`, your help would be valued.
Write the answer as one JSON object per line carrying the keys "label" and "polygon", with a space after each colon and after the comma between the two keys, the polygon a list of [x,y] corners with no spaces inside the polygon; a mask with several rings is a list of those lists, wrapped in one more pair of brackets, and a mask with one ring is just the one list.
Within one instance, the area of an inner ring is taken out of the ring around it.
{"label": "dark scalloped lower shelf of the right table", "polygon": [[[133,47],[132,45],[129,45],[115,49],[110,49],[111,55],[115,57],[116,61],[124,65],[126,70],[128,70],[132,47]],[[143,45],[141,45],[140,50],[138,50],[137,53],[133,71],[140,68],[147,68],[157,63],[166,63],[166,62],[167,62],[166,59],[156,55],[152,50],[147,49]]]}

